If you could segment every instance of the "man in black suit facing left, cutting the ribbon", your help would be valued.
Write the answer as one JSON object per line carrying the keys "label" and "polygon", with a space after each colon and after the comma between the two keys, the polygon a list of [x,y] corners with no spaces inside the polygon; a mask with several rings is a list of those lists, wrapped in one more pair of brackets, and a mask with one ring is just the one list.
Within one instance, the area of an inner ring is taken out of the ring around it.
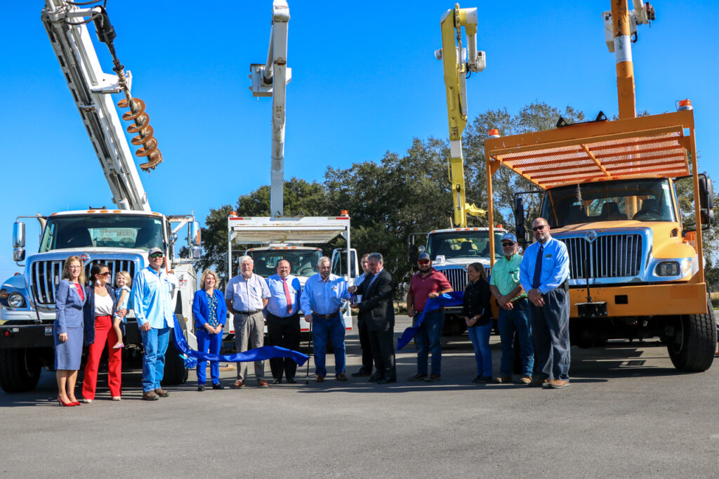
{"label": "man in black suit facing left, cutting the ribbon", "polygon": [[392,275],[383,268],[384,262],[380,253],[372,253],[367,260],[372,275],[367,275],[359,286],[349,288],[350,293],[362,295],[362,301],[352,304],[352,308],[358,309],[362,314],[370,336],[370,347],[376,367],[375,374],[370,376],[370,382],[396,383]]}

